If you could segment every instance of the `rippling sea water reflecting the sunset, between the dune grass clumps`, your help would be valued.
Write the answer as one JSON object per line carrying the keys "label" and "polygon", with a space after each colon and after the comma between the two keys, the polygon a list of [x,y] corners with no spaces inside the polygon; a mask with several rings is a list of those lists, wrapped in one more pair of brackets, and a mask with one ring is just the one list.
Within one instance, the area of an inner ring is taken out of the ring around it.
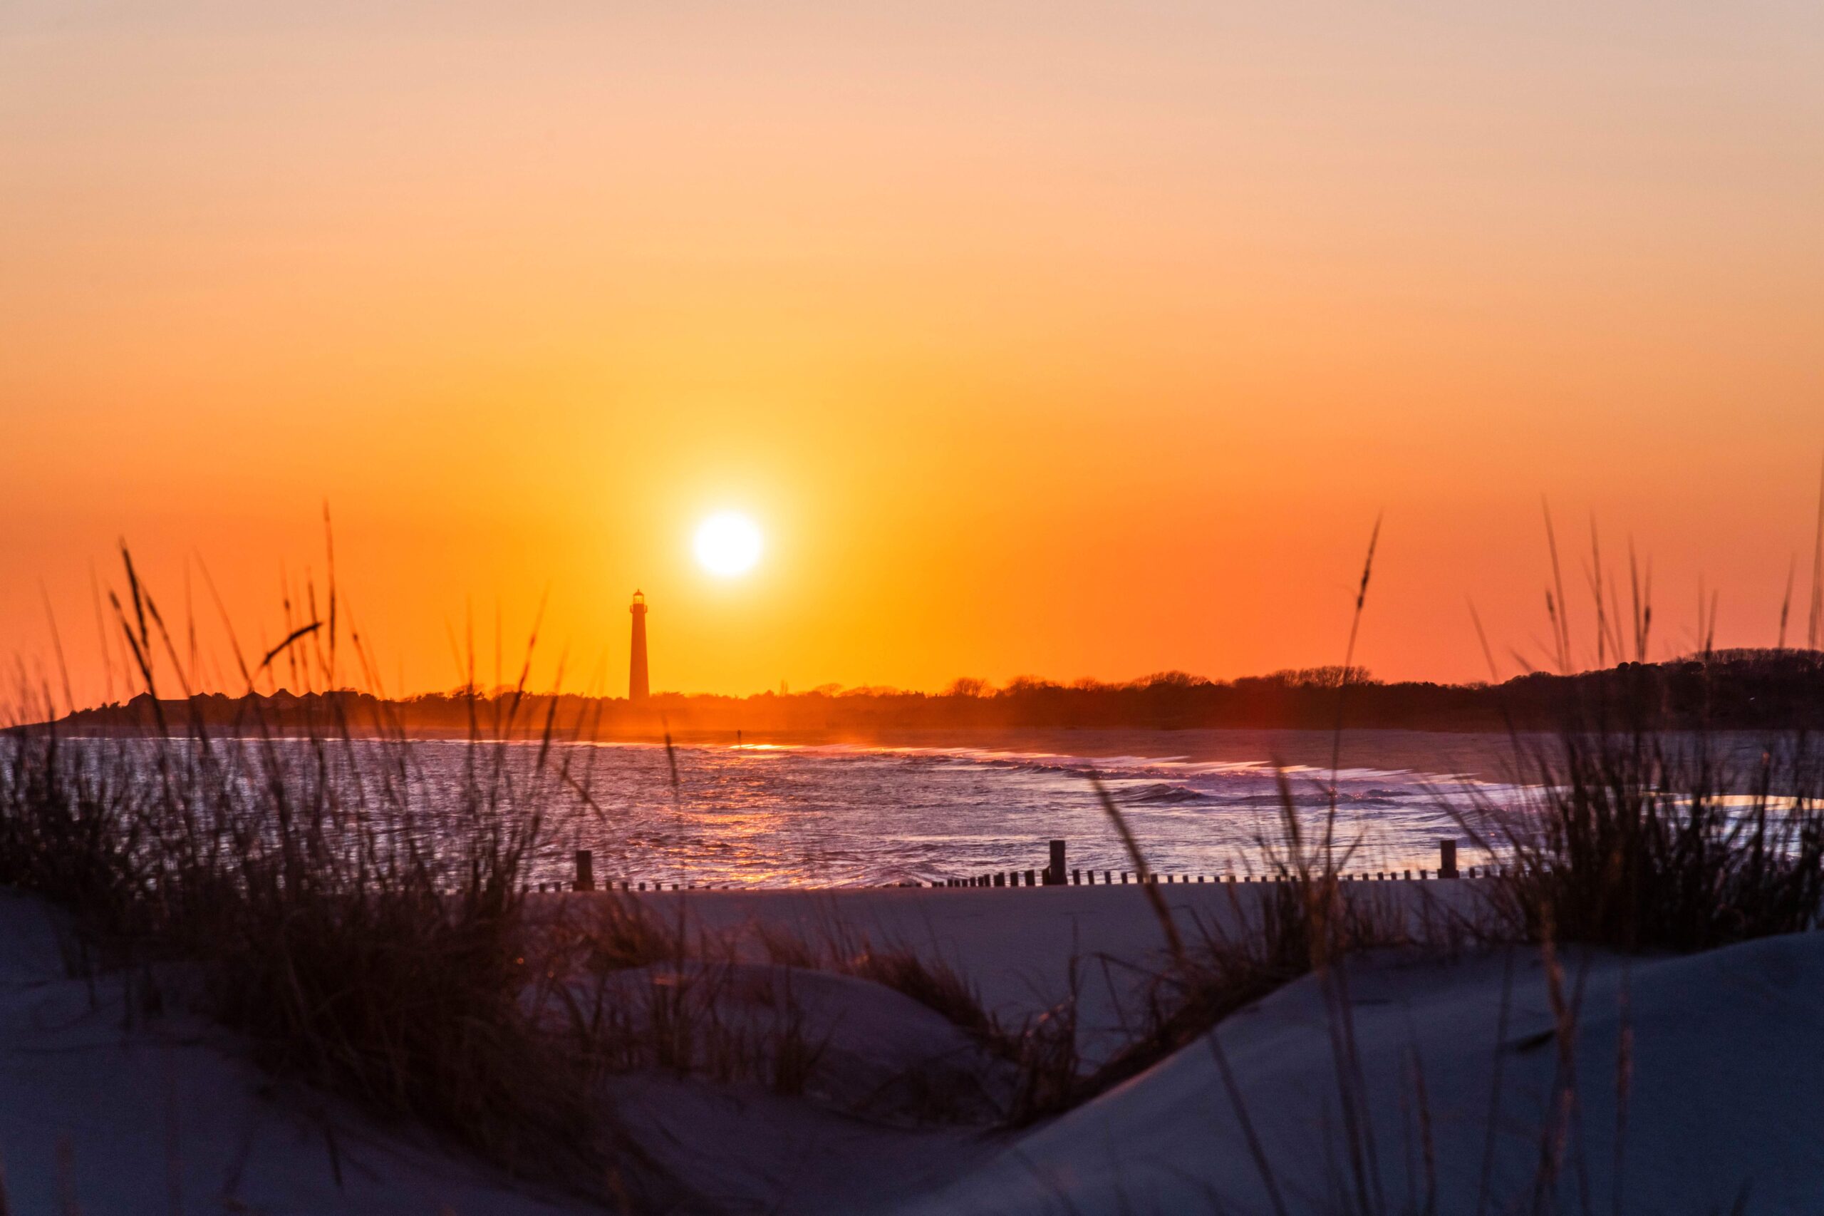
{"label": "rippling sea water reflecting the sunset, between the dune grass clumps", "polygon": [[[1058,732],[1065,734],[1065,732]],[[1069,732],[1098,754],[970,745],[567,745],[575,785],[545,781],[551,838],[533,882],[569,882],[589,849],[596,880],[733,887],[941,882],[1067,865],[1135,869],[1093,780],[1120,807],[1147,864],[1173,876],[1260,875],[1282,849],[1286,802],[1306,833],[1333,823],[1346,869],[1435,869],[1437,842],[1483,856],[1461,818],[1483,823],[1527,802],[1487,736],[1366,732],[1332,770],[1321,732]],[[1197,738],[1191,738],[1197,736]],[[1129,750],[1105,752],[1111,743]],[[467,745],[420,741],[425,772],[465,763]],[[1251,754],[1259,752],[1259,754]],[[1275,761],[1275,756],[1279,760]],[[1379,763],[1363,763],[1363,758]],[[523,758],[511,765],[520,769]],[[675,774],[675,776],[673,776]],[[582,794],[582,787],[587,796]],[[1335,807],[1335,818],[1332,816]]]}

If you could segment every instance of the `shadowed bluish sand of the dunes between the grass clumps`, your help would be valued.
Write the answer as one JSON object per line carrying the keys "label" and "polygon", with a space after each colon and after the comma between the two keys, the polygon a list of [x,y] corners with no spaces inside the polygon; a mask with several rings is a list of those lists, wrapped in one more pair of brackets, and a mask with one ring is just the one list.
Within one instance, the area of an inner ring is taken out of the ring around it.
{"label": "shadowed bluish sand of the dunes between the grass clumps", "polygon": [[[1415,911],[1474,904],[1466,882],[1352,887]],[[1264,887],[1162,891],[1191,933],[1242,913]],[[533,917],[586,913],[602,898],[545,896]],[[693,933],[746,940],[751,962],[739,966],[757,970],[768,968],[759,931],[917,946],[1007,1019],[1052,1008],[1076,957],[1089,973],[1091,1054],[1120,1033],[1162,962],[1138,887],[689,891],[646,906]],[[0,1143],[15,1211],[53,1211],[66,1192],[82,1211],[124,1214],[586,1211],[409,1128],[275,1085],[252,1066],[250,1044],[206,1022],[137,1017],[144,979],[66,979],[42,904],[5,896],[0,915]],[[1297,980],[1213,1037],[1023,1130],[896,1125],[815,1097],[662,1074],[626,1077],[604,1101],[722,1211],[1332,1212],[1353,1185],[1350,1143],[1366,1143],[1363,1176],[1388,1203],[1435,1194],[1435,1211],[1468,1212],[1507,1211],[1525,1192],[1569,1066],[1578,1117],[1563,1203],[1696,1214],[1749,1194],[1755,1212],[1817,1211],[1824,1150],[1811,1128],[1824,1119],[1824,1063],[1811,1039],[1824,1024],[1824,938],[1561,962],[1580,1004],[1572,1044],[1554,1043],[1561,1022],[1536,949],[1368,955],[1342,973],[1344,1008],[1315,979]],[[810,973],[799,984],[819,1033],[841,1041],[854,1066],[959,1050],[954,1028],[876,984]],[[181,982],[168,990],[175,999]],[[1339,1015],[1359,1057],[1342,1088]],[[1355,1141],[1346,1103],[1366,1121]]]}

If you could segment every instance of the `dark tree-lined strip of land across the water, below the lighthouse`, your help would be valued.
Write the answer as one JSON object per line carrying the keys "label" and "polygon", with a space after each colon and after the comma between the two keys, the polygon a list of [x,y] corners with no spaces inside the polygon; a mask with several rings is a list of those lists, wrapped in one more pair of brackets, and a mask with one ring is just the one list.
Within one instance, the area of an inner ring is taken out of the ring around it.
{"label": "dark tree-lined strip of land across the water, below the lighthouse", "polygon": [[[1171,736],[1187,750],[1229,758],[1237,739],[1251,750],[1282,747],[1308,756],[1304,736],[1348,732],[1476,736],[1550,732],[1567,725],[1645,725],[1654,730],[1824,729],[1824,652],[1731,650],[1673,663],[1550,676],[1534,672],[1501,685],[1379,683],[1366,672],[1313,668],[1237,681],[1166,672],[1125,685],[1071,687],[1020,679],[998,690],[959,681],[945,694],[888,688],[764,692],[748,697],[655,694],[642,701],[514,690],[429,694],[399,701],[336,690],[303,696],[275,690],[188,699],[139,696],[84,708],[55,723],[69,734],[261,734],[321,732],[389,738],[553,738],[691,743],[865,743],[972,747],[983,738],[1047,739],[1052,750],[1120,752],[1125,734]],[[47,729],[40,723],[36,729]],[[1228,732],[1228,734],[1217,734]],[[1071,739],[1052,745],[1051,739]],[[1096,739],[1094,743],[1087,743]],[[1173,747],[1178,747],[1173,743]],[[1286,756],[1291,761],[1291,756]],[[1297,761],[1302,763],[1302,761]]]}

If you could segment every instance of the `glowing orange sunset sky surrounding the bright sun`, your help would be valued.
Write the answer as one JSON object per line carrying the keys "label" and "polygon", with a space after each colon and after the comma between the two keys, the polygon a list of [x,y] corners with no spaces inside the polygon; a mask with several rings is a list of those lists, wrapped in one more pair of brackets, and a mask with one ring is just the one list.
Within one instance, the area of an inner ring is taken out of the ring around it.
{"label": "glowing orange sunset sky surrounding the bright sun", "polygon": [[1541,504],[1583,659],[1592,522],[1656,654],[1771,645],[1820,460],[1817,4],[0,5],[0,652],[78,703],[120,540],[237,690],[325,504],[387,692],[542,603],[622,690],[635,588],[669,690],[1337,663],[1377,517],[1357,661],[1510,676]]}

